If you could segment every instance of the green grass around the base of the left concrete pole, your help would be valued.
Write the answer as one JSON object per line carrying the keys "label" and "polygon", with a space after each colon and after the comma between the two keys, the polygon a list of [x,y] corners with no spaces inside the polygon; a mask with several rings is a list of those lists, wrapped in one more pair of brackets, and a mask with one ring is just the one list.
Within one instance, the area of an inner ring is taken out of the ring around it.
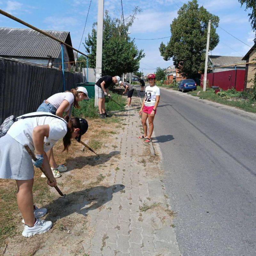
{"label": "green grass around the base of the left concrete pole", "polygon": [[[117,93],[110,92],[113,100],[118,102],[120,106],[118,106],[114,101],[109,100],[106,97],[105,107],[107,112],[116,111],[116,110],[124,110],[124,106],[126,104],[126,99]],[[99,117],[98,108],[94,107],[94,99],[83,100],[79,102],[80,108],[72,108],[72,116],[78,117]]]}

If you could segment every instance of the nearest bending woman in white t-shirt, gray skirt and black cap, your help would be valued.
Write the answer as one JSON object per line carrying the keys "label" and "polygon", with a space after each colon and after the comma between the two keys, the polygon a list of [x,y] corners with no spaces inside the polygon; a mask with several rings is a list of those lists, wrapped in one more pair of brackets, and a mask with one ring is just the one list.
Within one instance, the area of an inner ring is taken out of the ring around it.
{"label": "nearest bending woman in white t-shirt, gray skirt and black cap", "polygon": [[[47,115],[47,116],[45,116]],[[47,152],[63,138],[64,150],[68,150],[71,138],[80,141],[81,135],[88,129],[86,120],[69,116],[60,118],[45,112],[34,112],[23,116],[36,116],[19,119],[8,132],[0,138],[0,179],[12,179],[17,183],[17,203],[23,217],[23,236],[34,236],[48,231],[51,221],[40,220],[47,209],[38,209],[33,203],[34,167],[41,167],[53,180],[47,181],[51,187],[56,186]],[[19,118],[19,117],[18,117]],[[36,161],[33,161],[24,145],[36,151]]]}

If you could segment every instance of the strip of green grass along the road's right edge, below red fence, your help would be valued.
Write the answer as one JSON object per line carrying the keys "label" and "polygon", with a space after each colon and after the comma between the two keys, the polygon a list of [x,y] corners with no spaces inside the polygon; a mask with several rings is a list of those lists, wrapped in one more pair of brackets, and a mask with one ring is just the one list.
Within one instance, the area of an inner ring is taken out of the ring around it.
{"label": "strip of green grass along the road's right edge, below red fence", "polygon": [[192,91],[192,92],[188,92],[188,94],[192,96],[198,96],[200,99],[211,100],[223,105],[243,109],[247,112],[256,113],[256,106],[252,105],[253,102],[246,100],[242,97],[237,97],[238,94],[235,94],[234,97],[233,96],[221,97],[218,94],[215,94],[213,89],[208,89],[206,90],[206,92],[203,92],[202,89],[199,87],[197,90],[198,91],[200,90],[200,92],[198,93],[198,91]]}

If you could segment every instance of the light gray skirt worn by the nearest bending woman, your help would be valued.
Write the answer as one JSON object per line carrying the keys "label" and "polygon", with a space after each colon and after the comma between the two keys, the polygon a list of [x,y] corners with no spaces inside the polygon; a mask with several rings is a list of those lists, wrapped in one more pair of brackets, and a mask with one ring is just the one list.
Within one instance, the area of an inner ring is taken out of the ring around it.
{"label": "light gray skirt worn by the nearest bending woman", "polygon": [[0,179],[31,180],[34,167],[28,152],[8,133],[0,138]]}

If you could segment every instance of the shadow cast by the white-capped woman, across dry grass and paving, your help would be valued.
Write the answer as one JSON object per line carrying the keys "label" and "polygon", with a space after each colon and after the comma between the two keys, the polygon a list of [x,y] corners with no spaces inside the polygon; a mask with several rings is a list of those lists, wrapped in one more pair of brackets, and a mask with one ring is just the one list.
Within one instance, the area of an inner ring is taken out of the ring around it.
{"label": "shadow cast by the white-capped woman, across dry grass and paving", "polygon": [[68,167],[67,172],[72,171],[74,169],[82,169],[87,164],[90,166],[104,164],[108,162],[112,156],[117,156],[119,154],[120,154],[120,151],[112,151],[109,154],[99,154],[100,156],[99,160],[94,160],[96,155],[68,157],[66,159],[67,167]]}

